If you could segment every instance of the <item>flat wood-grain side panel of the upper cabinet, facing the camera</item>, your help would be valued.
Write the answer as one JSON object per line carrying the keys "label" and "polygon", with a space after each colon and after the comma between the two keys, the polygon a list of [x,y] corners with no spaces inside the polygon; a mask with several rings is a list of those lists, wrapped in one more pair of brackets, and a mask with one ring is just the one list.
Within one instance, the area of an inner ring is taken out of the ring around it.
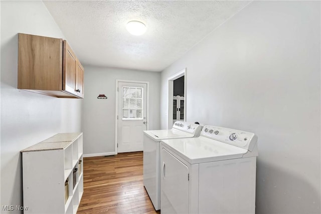
{"label": "flat wood-grain side panel of the upper cabinet, facing the camera", "polygon": [[18,88],[62,90],[62,39],[18,36]]}

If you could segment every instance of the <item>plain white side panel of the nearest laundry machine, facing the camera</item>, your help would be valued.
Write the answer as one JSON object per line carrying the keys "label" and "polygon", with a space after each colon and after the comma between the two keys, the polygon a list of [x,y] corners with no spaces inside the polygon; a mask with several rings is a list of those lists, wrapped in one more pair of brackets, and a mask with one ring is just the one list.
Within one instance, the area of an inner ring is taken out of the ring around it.
{"label": "plain white side panel of the nearest laundry machine, facing the camera", "polygon": [[199,165],[199,213],[255,213],[256,157]]}

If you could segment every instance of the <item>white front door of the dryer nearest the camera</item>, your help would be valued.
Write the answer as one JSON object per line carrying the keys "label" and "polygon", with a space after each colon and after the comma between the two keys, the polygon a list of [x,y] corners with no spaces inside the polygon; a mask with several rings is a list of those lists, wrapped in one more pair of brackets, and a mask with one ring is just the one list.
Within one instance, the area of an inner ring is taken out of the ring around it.
{"label": "white front door of the dryer nearest the camera", "polygon": [[189,212],[189,168],[162,149],[161,210],[164,213]]}

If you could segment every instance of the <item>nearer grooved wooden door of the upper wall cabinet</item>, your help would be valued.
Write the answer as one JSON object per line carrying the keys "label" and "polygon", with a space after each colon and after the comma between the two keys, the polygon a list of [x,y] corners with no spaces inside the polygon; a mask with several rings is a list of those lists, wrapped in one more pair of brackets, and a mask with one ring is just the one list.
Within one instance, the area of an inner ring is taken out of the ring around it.
{"label": "nearer grooved wooden door of the upper wall cabinet", "polygon": [[64,40],[64,55],[63,55],[63,90],[71,94],[76,93],[76,68],[77,58],[70,46]]}

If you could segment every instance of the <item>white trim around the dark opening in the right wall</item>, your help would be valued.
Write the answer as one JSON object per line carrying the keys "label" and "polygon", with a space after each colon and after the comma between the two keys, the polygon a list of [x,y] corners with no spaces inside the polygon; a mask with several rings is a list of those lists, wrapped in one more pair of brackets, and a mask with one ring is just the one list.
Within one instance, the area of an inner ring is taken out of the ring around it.
{"label": "white trim around the dark opening in the right wall", "polygon": [[184,76],[184,121],[186,121],[187,114],[186,114],[186,92],[187,92],[187,68],[182,69],[178,73],[174,74],[173,76],[169,77],[169,88],[168,88],[168,100],[167,100],[167,106],[168,106],[168,117],[167,117],[167,126],[168,129],[172,129],[173,127],[173,93],[174,93],[174,80],[183,77]]}

